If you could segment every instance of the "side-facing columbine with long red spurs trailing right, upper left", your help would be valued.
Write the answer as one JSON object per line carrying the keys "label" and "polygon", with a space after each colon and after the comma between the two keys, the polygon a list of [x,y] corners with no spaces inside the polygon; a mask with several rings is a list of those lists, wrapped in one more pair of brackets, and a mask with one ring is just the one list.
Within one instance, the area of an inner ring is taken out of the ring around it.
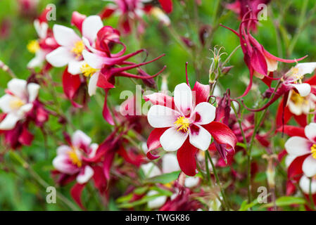
{"label": "side-facing columbine with long red spurs trailing right, upper left", "polygon": [[[110,115],[107,107],[107,96],[108,91],[114,87],[115,77],[152,79],[153,77],[160,75],[160,73],[165,70],[165,67],[153,76],[147,75],[146,72],[141,70],[139,67],[141,65],[147,65],[148,63],[158,60],[159,58],[163,57],[164,54],[148,62],[132,63],[127,60],[145,51],[145,49],[124,55],[126,47],[124,44],[118,41],[118,31],[112,27],[103,27],[98,32],[97,36],[97,49],[89,47],[91,52],[87,50],[82,51],[82,55],[87,64],[82,65],[81,70],[84,76],[90,77],[88,86],[88,92],[90,96],[96,93],[97,86],[103,88],[106,91],[106,98],[103,105],[103,117],[108,123],[114,124],[113,118]],[[108,48],[108,44],[110,42],[121,44],[123,49],[119,53],[110,53]],[[132,70],[134,68],[137,68],[139,75],[134,75],[127,72],[127,70]]]}

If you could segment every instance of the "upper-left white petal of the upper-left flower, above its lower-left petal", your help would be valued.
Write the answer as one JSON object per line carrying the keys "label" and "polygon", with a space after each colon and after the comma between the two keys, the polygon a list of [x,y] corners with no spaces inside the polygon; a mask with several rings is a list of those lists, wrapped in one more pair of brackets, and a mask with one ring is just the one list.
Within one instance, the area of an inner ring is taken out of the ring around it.
{"label": "upper-left white petal of the upper-left flower, above its lower-left petal", "polygon": [[81,41],[74,30],[62,25],[53,25],[53,37],[60,46],[72,47],[76,41]]}

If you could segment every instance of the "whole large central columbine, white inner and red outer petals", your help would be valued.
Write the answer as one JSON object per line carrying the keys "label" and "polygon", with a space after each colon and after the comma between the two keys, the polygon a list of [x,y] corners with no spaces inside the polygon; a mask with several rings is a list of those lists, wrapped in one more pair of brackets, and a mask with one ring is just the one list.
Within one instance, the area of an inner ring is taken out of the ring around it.
{"label": "whole large central columbine, white inner and red outer petals", "polygon": [[209,93],[208,85],[196,82],[192,90],[188,84],[178,84],[173,98],[162,93],[144,96],[154,104],[147,115],[149,124],[155,127],[147,141],[148,158],[158,158],[151,150],[159,147],[177,150],[180,168],[194,176],[197,150],[207,150],[212,136],[215,142],[234,148],[236,136],[225,124],[213,121],[216,108],[208,103]]}

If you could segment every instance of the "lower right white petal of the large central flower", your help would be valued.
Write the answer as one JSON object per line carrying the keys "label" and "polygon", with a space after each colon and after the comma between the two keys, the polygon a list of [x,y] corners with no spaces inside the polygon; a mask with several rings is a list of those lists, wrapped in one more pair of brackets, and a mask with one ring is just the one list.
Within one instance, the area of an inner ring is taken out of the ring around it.
{"label": "lower right white petal of the large central flower", "polygon": [[201,150],[207,150],[210,146],[210,139],[212,136],[210,136],[210,133],[203,127],[199,125],[196,125],[196,127],[199,128],[198,131],[193,131],[192,128],[190,129],[189,141],[192,146]]}

